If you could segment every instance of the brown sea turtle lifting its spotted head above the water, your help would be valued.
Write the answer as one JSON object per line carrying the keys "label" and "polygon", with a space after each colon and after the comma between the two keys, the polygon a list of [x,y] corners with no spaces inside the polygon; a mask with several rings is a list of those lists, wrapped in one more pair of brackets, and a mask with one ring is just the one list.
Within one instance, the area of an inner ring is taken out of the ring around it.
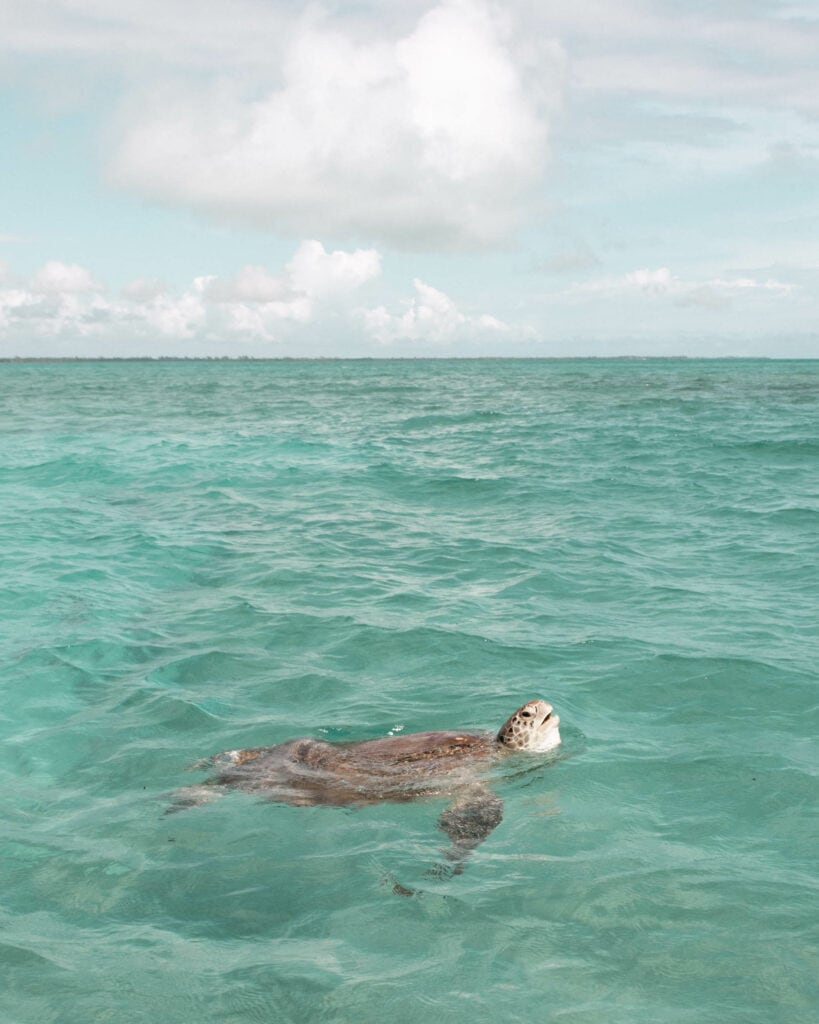
{"label": "brown sea turtle lifting its spotted head above the water", "polygon": [[529,700],[497,733],[414,732],[340,743],[302,737],[223,751],[196,766],[215,773],[180,790],[169,811],[207,803],[219,786],[302,807],[447,796],[451,803],[438,826],[451,841],[446,857],[459,873],[464,859],[503,817],[503,802],[485,785],[486,770],[510,753],[553,750],[560,743],[559,724],[550,703]]}

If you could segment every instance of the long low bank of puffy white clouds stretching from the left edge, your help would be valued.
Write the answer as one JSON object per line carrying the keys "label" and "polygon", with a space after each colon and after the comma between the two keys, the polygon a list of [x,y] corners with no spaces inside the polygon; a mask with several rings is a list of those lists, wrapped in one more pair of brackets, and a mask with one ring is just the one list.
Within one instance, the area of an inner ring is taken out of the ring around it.
{"label": "long low bank of puffy white clouds stretching from the left edge", "polygon": [[181,291],[140,278],[114,296],[85,267],[51,261],[27,282],[10,273],[0,279],[0,340],[42,351],[60,339],[85,339],[102,344],[103,351],[124,346],[155,354],[158,346],[185,342],[212,342],[228,350],[240,342],[278,344],[303,338],[294,332],[309,326],[313,333],[330,328],[324,336],[332,352],[339,329],[360,335],[362,324],[367,337],[379,343],[437,343],[508,330],[490,315],[462,312],[421,281],[416,297],[398,313],[384,306],[362,308],[359,292],[380,273],[375,250],[328,252],[308,240],[278,273],[246,266],[232,276],[201,275]]}

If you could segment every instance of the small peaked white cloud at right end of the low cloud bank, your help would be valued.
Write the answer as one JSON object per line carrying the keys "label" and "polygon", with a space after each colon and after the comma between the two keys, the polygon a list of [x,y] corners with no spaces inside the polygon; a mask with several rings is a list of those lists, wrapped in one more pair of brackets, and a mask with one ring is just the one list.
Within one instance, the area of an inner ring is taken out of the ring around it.
{"label": "small peaked white cloud at right end of the low cloud bank", "polygon": [[414,282],[415,298],[404,302],[401,312],[392,313],[385,306],[361,311],[367,332],[381,344],[396,341],[423,341],[433,344],[473,340],[476,335],[507,333],[509,326],[487,314],[468,315],[443,292]]}

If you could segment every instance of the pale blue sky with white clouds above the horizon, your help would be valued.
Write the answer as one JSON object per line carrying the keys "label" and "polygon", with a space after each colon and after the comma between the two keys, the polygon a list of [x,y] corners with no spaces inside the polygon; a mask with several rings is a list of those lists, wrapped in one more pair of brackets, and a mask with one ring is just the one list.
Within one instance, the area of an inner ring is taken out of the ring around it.
{"label": "pale blue sky with white clouds above the horizon", "polygon": [[819,0],[0,0],[0,355],[819,357]]}

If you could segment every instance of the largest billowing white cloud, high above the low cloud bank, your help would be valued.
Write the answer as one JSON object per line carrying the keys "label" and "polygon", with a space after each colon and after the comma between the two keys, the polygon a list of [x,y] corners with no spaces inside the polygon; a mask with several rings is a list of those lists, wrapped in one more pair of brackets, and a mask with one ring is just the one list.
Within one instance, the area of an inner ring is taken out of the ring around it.
{"label": "largest billowing white cloud, high above the low cloud bank", "polygon": [[545,43],[536,56],[524,60],[479,0],[445,0],[400,38],[364,42],[308,13],[278,87],[166,91],[136,110],[112,174],[285,230],[494,243],[519,224],[545,164],[562,53]]}

